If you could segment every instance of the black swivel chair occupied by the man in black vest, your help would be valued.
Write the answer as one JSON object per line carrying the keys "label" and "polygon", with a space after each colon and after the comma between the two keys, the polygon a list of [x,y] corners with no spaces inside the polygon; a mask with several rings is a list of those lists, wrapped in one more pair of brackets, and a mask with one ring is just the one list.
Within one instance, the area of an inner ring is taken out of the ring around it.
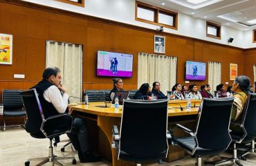
{"label": "black swivel chair occupied by the man in black vest", "polygon": [[[47,119],[44,118],[44,112],[42,110],[37,91],[31,89],[21,92],[21,96],[24,102],[24,107],[28,116],[26,122],[26,131],[30,133],[33,138],[48,138],[50,140],[49,156],[44,158],[32,158],[25,162],[25,165],[30,165],[31,160],[42,160],[38,165],[44,165],[45,163],[52,162],[57,165],[62,165],[58,160],[72,159],[73,165],[76,164],[74,157],[57,157],[53,154],[52,140],[55,136],[60,136],[64,133],[68,133],[72,129],[72,117],[68,114],[59,114],[56,116],[50,116]],[[67,129],[56,129],[54,131],[46,131],[44,127],[52,120],[58,120],[58,118],[66,117]]]}

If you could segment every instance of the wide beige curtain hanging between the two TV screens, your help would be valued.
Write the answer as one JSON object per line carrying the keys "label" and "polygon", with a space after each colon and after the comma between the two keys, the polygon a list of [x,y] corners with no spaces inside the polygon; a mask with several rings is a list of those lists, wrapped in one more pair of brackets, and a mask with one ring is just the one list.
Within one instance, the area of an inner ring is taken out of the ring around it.
{"label": "wide beige curtain hanging between the two TV screens", "polygon": [[138,89],[141,84],[161,83],[161,91],[166,94],[176,84],[177,57],[138,53]]}

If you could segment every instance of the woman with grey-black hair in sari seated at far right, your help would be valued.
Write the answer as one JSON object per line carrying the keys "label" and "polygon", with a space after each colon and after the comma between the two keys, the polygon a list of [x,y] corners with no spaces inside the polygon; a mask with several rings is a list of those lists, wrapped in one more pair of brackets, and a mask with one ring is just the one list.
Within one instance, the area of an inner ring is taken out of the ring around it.
{"label": "woman with grey-black hair in sari seated at far right", "polygon": [[[240,75],[235,78],[232,84],[232,89],[235,91],[234,102],[232,104],[231,121],[240,120],[244,104],[246,103],[247,95],[250,92],[250,78],[246,75]],[[241,128],[237,125],[230,124],[231,133],[242,134]],[[209,156],[204,160],[205,163],[216,163],[221,160],[221,156]]]}

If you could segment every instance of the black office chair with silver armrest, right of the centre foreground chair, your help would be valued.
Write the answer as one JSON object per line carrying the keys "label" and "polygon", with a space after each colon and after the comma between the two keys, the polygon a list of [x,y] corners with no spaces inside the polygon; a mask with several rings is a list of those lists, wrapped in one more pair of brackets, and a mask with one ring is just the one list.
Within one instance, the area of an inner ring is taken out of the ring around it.
{"label": "black office chair with silver armrest, right of the centre foreground chair", "polygon": [[196,131],[174,124],[190,136],[172,138],[173,145],[185,149],[188,154],[196,156],[196,165],[201,165],[201,156],[219,154],[230,145],[231,137],[228,131],[233,98],[203,98],[199,108]]}

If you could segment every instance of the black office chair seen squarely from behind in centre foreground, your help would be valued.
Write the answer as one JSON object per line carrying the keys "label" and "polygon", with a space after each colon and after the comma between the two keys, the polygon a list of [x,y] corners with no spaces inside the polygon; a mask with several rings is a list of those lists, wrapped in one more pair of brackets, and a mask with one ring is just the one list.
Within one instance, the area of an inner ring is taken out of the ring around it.
{"label": "black office chair seen squarely from behind in centre foreground", "polygon": [[113,127],[118,159],[140,165],[166,158],[167,118],[167,100],[124,100],[120,133]]}

